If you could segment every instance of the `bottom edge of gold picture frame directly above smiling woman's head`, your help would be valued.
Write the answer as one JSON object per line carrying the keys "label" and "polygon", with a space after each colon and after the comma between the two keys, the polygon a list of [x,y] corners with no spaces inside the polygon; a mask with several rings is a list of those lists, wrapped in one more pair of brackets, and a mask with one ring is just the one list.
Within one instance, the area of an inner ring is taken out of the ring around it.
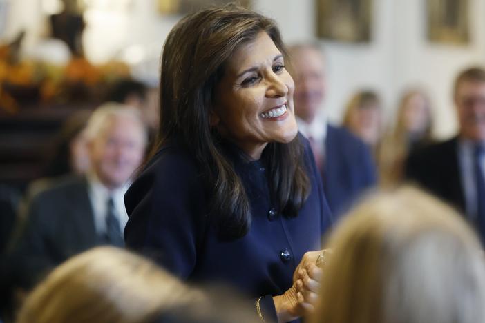
{"label": "bottom edge of gold picture frame directly above smiling woman's head", "polygon": [[245,8],[249,8],[251,0],[156,0],[158,12],[161,14],[188,14],[209,6],[223,6],[230,2],[236,2]]}

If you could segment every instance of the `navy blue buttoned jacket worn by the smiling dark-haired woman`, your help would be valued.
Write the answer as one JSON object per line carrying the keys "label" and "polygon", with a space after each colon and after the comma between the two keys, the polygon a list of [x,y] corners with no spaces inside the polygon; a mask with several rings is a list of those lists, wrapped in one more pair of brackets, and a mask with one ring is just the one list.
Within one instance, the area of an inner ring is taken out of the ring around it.
{"label": "navy blue buttoned jacket worn by the smiling dark-haired woman", "polygon": [[321,237],[332,224],[310,146],[300,137],[312,188],[297,217],[275,212],[260,161],[231,156],[251,204],[251,227],[242,238],[218,239],[195,159],[177,144],[168,144],[125,195],[126,246],[182,279],[229,284],[249,297],[265,295],[261,306],[274,310],[270,296],[292,286],[303,254],[321,248]]}

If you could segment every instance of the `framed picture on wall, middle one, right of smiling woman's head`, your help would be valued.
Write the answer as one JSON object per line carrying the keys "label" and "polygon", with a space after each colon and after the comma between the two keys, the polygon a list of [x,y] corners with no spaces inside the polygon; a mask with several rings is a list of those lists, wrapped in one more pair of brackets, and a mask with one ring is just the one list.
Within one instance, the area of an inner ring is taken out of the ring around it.
{"label": "framed picture on wall, middle one, right of smiling woman's head", "polygon": [[371,39],[373,0],[316,0],[316,35],[353,43]]}

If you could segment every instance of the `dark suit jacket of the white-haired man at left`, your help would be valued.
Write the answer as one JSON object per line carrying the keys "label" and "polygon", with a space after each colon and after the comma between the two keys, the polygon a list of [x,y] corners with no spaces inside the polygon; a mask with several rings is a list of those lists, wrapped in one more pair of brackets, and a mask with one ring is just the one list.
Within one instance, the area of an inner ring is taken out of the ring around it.
{"label": "dark suit jacket of the white-haired man at left", "polygon": [[34,195],[15,248],[17,269],[33,284],[50,268],[98,244],[86,179],[64,177]]}

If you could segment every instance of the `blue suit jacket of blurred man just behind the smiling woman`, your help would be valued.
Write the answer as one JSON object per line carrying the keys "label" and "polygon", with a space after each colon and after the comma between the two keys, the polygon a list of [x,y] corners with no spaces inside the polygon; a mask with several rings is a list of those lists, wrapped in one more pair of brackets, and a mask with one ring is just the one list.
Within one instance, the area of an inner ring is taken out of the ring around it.
{"label": "blue suit jacket of blurred man just behind the smiling woman", "polygon": [[339,216],[377,182],[370,149],[344,128],[327,126],[325,165],[321,172],[330,210]]}

